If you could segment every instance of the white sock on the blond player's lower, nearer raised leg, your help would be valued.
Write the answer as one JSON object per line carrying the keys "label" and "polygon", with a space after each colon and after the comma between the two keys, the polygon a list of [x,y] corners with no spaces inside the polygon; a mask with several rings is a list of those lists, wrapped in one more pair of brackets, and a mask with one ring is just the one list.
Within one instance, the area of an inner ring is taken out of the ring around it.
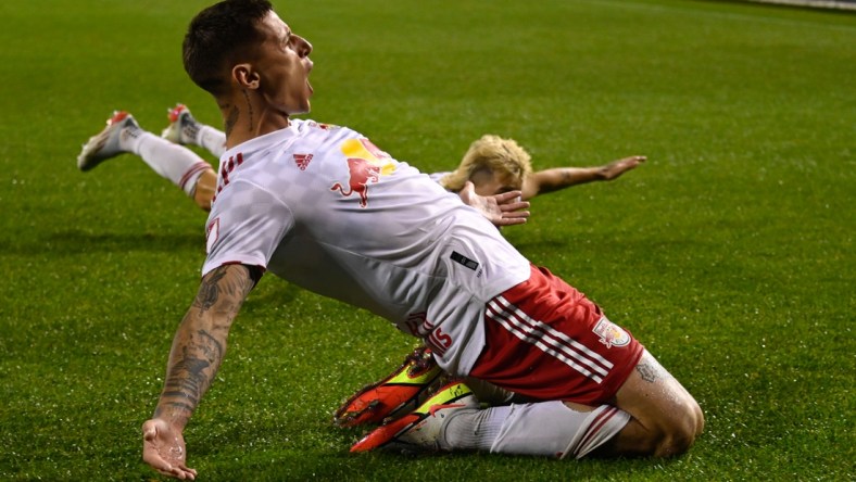
{"label": "white sock on the blond player's lower, nearer raised leg", "polygon": [[176,145],[151,132],[141,131],[136,136],[128,136],[127,145],[123,148],[142,157],[149,167],[169,179],[189,196],[192,196],[197,189],[199,176],[212,168],[211,164],[190,149]]}

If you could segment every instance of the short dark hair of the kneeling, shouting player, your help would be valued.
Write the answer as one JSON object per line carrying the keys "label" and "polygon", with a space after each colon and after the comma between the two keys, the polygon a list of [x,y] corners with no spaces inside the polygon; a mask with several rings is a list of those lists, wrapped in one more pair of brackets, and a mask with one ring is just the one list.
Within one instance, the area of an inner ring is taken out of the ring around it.
{"label": "short dark hair of the kneeling, shouting player", "polygon": [[226,68],[241,62],[246,48],[263,40],[259,22],[274,10],[268,0],[225,0],[199,12],[182,45],[185,72],[214,96],[228,86]]}

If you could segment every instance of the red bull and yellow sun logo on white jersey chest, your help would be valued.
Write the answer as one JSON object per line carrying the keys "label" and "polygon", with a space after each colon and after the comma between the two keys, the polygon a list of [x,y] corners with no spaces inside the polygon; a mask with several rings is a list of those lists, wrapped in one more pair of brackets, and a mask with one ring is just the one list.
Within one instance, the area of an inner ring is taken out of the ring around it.
{"label": "red bull and yellow sun logo on white jersey chest", "polygon": [[368,187],[377,182],[380,176],[395,169],[395,164],[386,152],[378,149],[368,139],[348,139],[342,143],[342,154],[348,162],[348,183],[336,182],[331,191],[339,191],[343,196],[356,194],[360,207],[368,205]]}

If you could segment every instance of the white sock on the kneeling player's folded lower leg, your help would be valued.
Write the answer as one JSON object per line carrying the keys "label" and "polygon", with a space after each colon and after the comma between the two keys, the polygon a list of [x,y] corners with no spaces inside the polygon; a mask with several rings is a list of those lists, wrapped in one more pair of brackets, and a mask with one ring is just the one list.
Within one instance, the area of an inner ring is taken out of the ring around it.
{"label": "white sock on the kneeling player's folded lower leg", "polygon": [[460,410],[446,421],[440,446],[448,451],[582,458],[628,421],[630,415],[609,405],[576,411],[558,401]]}

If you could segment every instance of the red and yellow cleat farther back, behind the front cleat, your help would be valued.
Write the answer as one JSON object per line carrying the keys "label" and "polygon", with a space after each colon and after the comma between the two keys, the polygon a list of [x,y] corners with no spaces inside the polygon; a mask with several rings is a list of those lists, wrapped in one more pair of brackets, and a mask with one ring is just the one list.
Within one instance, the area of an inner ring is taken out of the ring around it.
{"label": "red and yellow cleat farther back, behind the front cleat", "polygon": [[420,346],[392,375],[363,388],[342,404],[333,421],[340,427],[356,427],[407,414],[428,397],[442,375],[430,348]]}

